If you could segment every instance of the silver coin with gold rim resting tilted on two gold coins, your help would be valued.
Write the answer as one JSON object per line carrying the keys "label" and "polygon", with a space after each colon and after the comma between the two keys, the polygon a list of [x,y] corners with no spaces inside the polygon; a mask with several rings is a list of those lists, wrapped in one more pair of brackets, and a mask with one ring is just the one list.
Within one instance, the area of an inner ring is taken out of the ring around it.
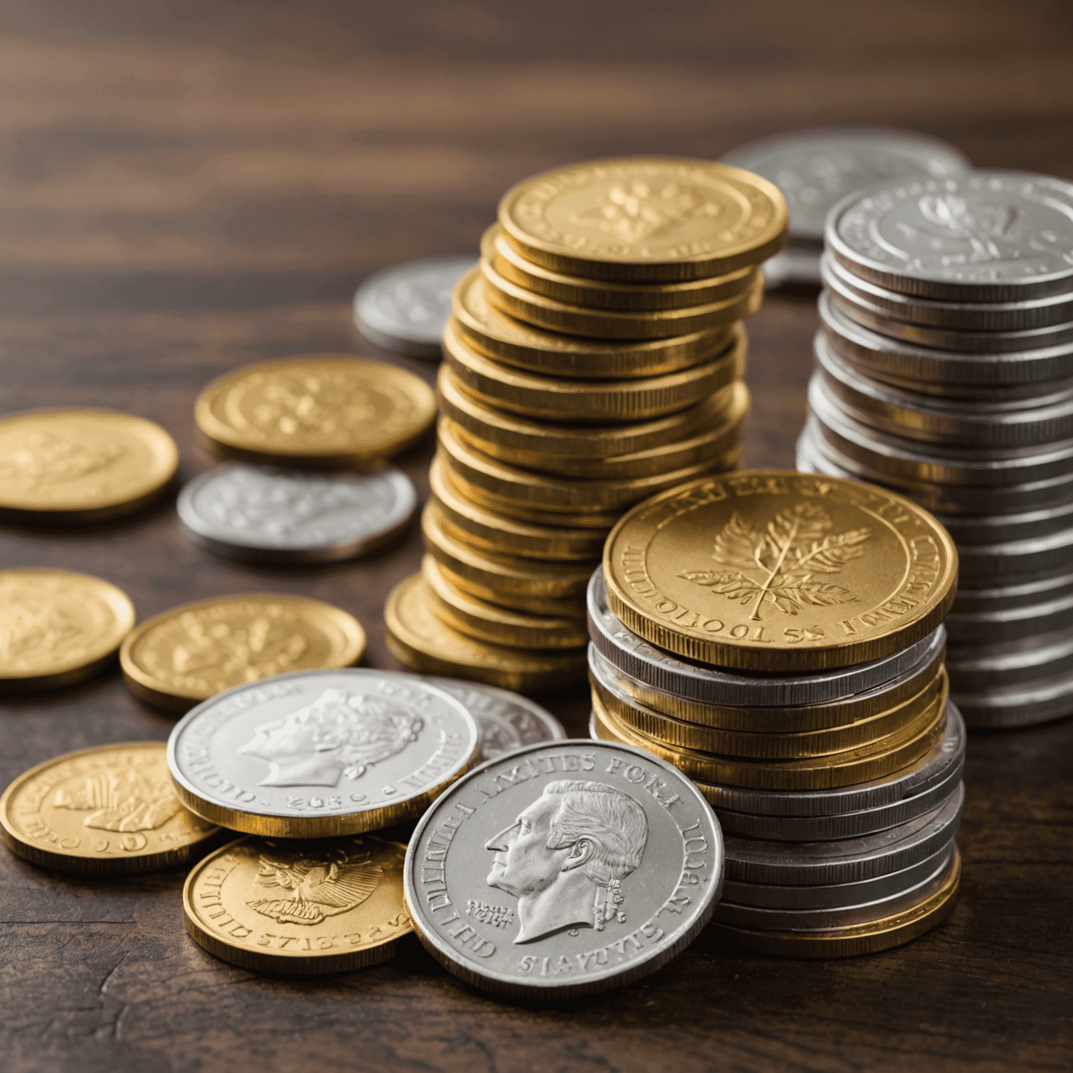
{"label": "silver coin with gold rim resting tilted on two gold coins", "polygon": [[327,838],[416,819],[480,743],[465,706],[415,675],[297,671],[199,704],[167,766],[179,799],[221,826]]}

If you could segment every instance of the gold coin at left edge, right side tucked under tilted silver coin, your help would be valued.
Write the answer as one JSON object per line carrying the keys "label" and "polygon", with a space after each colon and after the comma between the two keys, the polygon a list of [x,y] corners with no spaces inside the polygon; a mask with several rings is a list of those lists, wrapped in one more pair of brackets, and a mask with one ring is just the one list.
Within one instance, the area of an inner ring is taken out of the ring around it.
{"label": "gold coin at left edge, right side tucked under tilted silver coin", "polygon": [[116,876],[186,864],[220,828],[175,796],[163,741],[80,749],[24,771],[0,797],[0,836],[59,871]]}

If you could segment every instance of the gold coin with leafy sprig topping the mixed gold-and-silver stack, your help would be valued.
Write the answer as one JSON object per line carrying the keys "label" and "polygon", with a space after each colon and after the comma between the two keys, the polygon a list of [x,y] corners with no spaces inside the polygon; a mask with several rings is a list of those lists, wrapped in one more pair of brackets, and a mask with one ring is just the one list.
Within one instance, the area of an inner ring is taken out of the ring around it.
{"label": "gold coin with leafy sprig topping the mixed gold-and-silver stack", "polygon": [[880,488],[783,470],[701,479],[607,538],[612,611],[660,648],[763,672],[851,666],[930,633],[957,550],[926,511]]}

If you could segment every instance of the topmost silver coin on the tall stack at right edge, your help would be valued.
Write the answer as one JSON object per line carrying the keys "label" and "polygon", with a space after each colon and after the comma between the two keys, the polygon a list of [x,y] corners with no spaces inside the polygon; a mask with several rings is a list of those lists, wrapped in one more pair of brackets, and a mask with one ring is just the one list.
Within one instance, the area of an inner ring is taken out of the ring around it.
{"label": "topmost silver coin on the tall stack at right edge", "polygon": [[880,182],[827,217],[827,249],[880,286],[953,302],[1073,289],[1073,183],[979,171]]}

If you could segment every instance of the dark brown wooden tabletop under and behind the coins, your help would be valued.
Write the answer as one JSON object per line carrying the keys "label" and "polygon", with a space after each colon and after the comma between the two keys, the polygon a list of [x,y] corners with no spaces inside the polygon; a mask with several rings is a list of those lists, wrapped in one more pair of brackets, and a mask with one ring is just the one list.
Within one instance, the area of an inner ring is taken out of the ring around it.
{"label": "dark brown wooden tabletop under and behind the coins", "polygon": [[[182,479],[211,465],[193,435],[203,384],[277,355],[376,354],[351,327],[358,281],[475,251],[499,194],[541,168],[853,121],[1073,178],[1062,2],[6,0],[2,19],[0,411],[150,417]],[[808,296],[770,296],[750,324],[750,465],[793,464],[814,325]],[[428,458],[403,460],[423,495]],[[119,526],[0,531],[0,565],[106,577],[139,618],[217,593],[320,597],[361,618],[380,667],[398,666],[384,597],[420,555],[411,532],[371,562],[233,565],[183,540],[174,497]],[[584,733],[584,699],[550,706]],[[117,672],[0,718],[0,784],[172,725]],[[569,1005],[491,1001],[415,939],[364,972],[254,975],[187,937],[182,869],[101,882],[0,851],[0,1068],[1069,1069],[1071,756],[1070,720],[972,737],[960,898],[907,947],[808,962],[702,935]]]}

